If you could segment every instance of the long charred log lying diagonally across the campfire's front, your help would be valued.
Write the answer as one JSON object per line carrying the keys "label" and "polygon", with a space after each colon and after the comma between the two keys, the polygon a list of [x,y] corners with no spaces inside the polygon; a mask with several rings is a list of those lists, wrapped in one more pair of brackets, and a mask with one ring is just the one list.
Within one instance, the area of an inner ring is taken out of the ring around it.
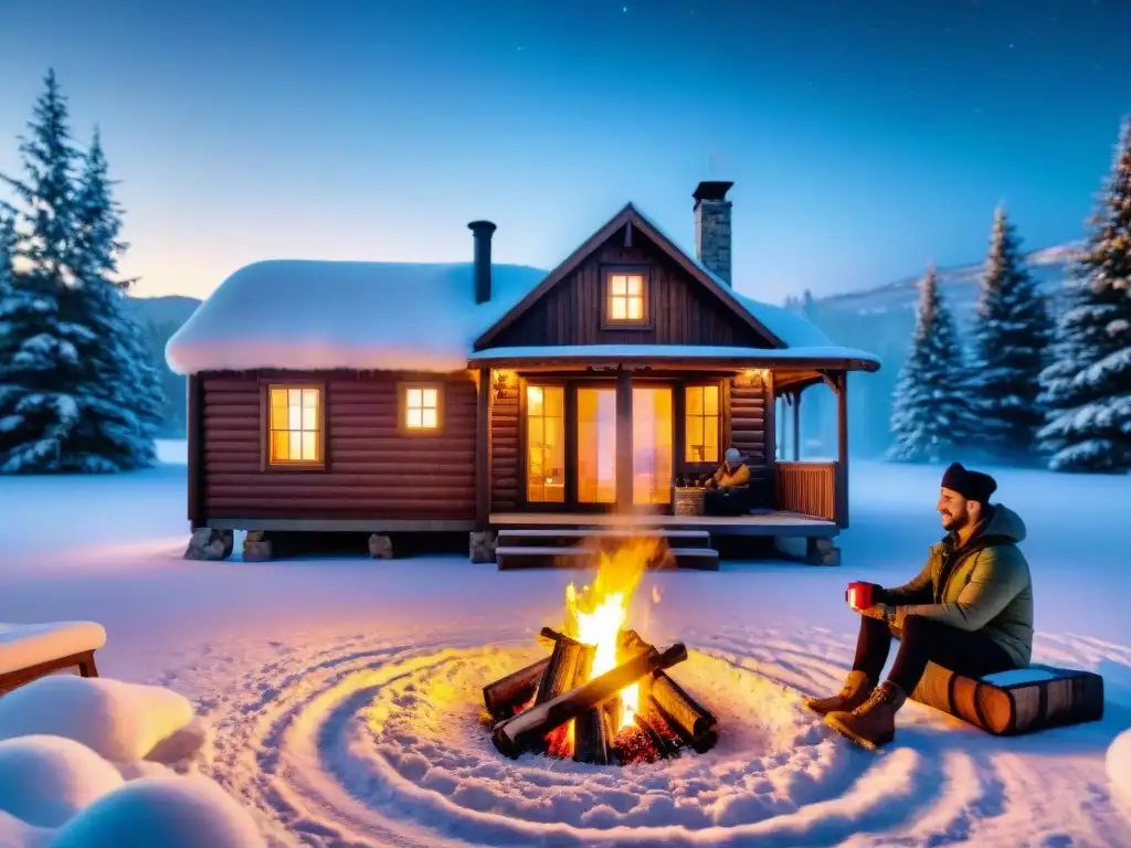
{"label": "long charred log lying diagonally across the campfire's front", "polygon": [[657,669],[670,668],[687,658],[688,649],[682,642],[676,642],[663,654],[653,648],[588,683],[500,721],[491,734],[491,741],[501,754],[517,759],[527,745],[541,739],[555,727],[603,704],[641,677]]}

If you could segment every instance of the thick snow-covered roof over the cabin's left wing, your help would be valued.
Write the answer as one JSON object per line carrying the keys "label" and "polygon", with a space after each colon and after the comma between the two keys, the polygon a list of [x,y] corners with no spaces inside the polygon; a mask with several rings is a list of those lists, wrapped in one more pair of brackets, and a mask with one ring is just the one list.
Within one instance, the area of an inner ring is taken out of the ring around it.
{"label": "thick snow-covered roof over the cabin's left wing", "polygon": [[241,268],[165,346],[179,374],[254,369],[459,371],[472,343],[545,276],[493,265],[474,303],[472,262],[273,260]]}

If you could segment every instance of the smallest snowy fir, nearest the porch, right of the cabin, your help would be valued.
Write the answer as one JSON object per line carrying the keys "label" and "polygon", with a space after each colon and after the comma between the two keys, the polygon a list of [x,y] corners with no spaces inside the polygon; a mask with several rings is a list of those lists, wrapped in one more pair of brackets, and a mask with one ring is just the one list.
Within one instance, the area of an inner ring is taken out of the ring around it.
{"label": "smallest snowy fir, nearest the porch, right of the cabin", "polygon": [[892,400],[889,460],[950,461],[967,450],[976,422],[955,320],[933,266],[920,283],[915,336]]}

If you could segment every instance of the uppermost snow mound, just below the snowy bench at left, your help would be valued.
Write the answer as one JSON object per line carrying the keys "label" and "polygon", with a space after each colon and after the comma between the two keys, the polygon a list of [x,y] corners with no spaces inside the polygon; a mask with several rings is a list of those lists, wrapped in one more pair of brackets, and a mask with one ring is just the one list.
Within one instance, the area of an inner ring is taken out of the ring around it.
{"label": "uppermost snow mound, just below the snowy bench at left", "polygon": [[62,736],[118,763],[140,760],[191,720],[184,696],[105,677],[42,677],[0,698],[0,739]]}

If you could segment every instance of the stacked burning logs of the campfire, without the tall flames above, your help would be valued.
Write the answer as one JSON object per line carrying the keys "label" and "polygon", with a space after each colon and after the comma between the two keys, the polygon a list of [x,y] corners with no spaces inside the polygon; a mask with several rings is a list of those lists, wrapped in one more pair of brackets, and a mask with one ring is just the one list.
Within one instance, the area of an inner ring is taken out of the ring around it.
{"label": "stacked burning logs of the campfire, without the tall flames above", "polygon": [[[667,674],[688,658],[681,642],[657,650],[636,631],[622,630],[620,665],[592,677],[593,646],[550,628],[538,641],[549,657],[483,687],[491,741],[503,755],[530,751],[628,765],[685,747],[703,753],[717,741],[715,717]],[[622,728],[620,692],[632,684],[639,684],[639,709]]]}

